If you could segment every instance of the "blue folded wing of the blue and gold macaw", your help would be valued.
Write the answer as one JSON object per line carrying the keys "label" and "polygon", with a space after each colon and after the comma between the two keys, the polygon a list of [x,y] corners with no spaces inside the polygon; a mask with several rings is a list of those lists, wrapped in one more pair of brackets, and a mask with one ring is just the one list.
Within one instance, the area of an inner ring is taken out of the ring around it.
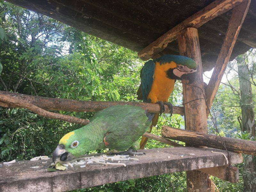
{"label": "blue folded wing of the blue and gold macaw", "polygon": [[[137,92],[138,99],[142,99],[143,102],[150,103],[150,100],[147,99],[148,94],[151,90],[151,86],[154,81],[154,73],[155,73],[156,65],[153,60],[149,60],[143,66],[140,71],[140,88]],[[142,98],[141,98],[142,95]]]}

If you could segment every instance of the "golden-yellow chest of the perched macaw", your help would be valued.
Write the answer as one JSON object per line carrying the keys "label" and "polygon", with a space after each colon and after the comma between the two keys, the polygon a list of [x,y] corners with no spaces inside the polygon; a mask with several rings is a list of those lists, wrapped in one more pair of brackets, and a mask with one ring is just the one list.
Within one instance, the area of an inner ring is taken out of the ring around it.
{"label": "golden-yellow chest of the perched macaw", "polygon": [[166,71],[170,68],[175,68],[176,63],[172,61],[161,65],[158,62],[155,64],[154,81],[148,94],[148,99],[151,100],[151,103],[156,103],[157,101],[168,102],[175,80],[169,79]]}

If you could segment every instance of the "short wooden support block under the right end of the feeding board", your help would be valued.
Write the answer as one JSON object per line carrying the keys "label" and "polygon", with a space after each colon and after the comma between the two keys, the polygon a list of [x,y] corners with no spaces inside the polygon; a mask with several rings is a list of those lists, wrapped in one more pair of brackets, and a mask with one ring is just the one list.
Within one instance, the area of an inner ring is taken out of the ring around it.
{"label": "short wooden support block under the right end of the feeding board", "polygon": [[224,165],[219,167],[203,168],[199,171],[218,177],[221,180],[237,183],[239,181],[239,169],[232,165]]}

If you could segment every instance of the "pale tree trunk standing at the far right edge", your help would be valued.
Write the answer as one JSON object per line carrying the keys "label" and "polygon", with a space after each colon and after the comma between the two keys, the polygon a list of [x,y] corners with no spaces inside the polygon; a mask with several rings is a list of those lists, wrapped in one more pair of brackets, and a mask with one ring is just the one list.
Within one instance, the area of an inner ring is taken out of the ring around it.
{"label": "pale tree trunk standing at the far right edge", "polygon": [[[242,110],[242,130],[255,137],[254,111],[252,107],[252,85],[247,66],[237,66],[239,86],[241,92],[240,107]],[[256,190],[256,164],[255,157],[248,155],[244,158],[244,192]]]}

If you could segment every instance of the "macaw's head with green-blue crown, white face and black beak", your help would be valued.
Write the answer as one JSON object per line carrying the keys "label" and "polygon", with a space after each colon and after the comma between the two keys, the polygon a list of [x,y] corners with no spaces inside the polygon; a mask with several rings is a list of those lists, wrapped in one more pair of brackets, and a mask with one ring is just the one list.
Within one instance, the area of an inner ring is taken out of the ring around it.
{"label": "macaw's head with green-blue crown, white face and black beak", "polygon": [[156,59],[160,64],[169,63],[170,68],[166,75],[170,79],[186,79],[189,84],[193,83],[196,77],[196,62],[188,57],[180,55],[164,55]]}

